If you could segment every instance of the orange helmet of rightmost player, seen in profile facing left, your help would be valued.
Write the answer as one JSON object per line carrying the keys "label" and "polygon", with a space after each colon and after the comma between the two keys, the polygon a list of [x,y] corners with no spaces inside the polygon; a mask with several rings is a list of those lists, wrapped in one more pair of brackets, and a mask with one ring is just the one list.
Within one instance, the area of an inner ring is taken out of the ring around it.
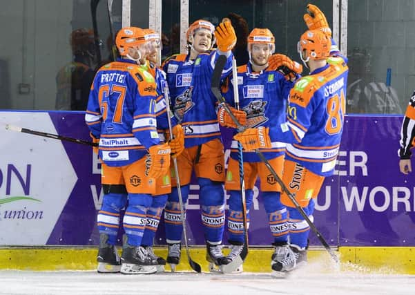
{"label": "orange helmet of rightmost player, seen in profile facing left", "polygon": [[330,56],[331,39],[320,30],[307,30],[301,35],[297,51],[304,62],[309,59],[326,59]]}

